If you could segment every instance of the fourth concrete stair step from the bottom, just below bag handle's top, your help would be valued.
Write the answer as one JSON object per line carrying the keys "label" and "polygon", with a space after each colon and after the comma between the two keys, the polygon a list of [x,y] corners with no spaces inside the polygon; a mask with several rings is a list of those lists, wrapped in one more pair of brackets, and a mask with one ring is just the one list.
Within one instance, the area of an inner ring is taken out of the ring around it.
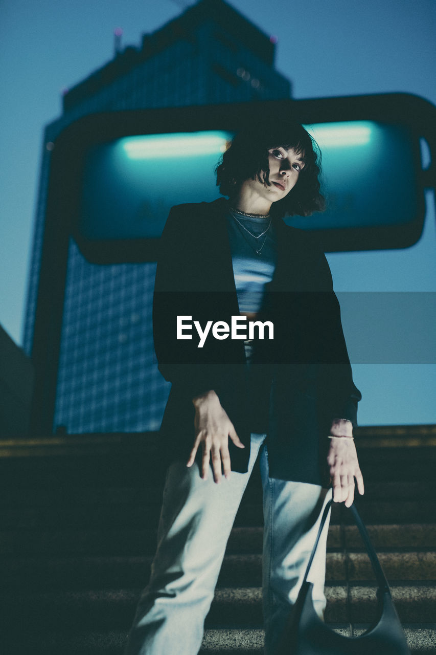
{"label": "fourth concrete stair step from the bottom, just below bag handle's top", "polygon": [[[368,525],[375,548],[436,548],[436,523]],[[329,529],[328,548],[361,548],[355,525]],[[228,553],[262,552],[262,527],[236,527],[228,541]],[[0,531],[1,555],[153,555],[156,529],[16,529]]]}

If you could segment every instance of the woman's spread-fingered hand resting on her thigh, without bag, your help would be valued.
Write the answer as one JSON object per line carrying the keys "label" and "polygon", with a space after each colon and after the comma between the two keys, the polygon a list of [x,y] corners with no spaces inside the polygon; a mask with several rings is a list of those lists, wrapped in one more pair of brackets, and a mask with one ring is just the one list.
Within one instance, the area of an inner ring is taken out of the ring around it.
{"label": "woman's spread-fingered hand resting on her thigh, without bag", "polygon": [[195,441],[187,466],[192,466],[200,443],[203,449],[201,477],[208,477],[209,462],[211,460],[213,479],[216,483],[221,481],[222,472],[227,479],[230,477],[230,455],[228,453],[228,438],[238,448],[245,448],[236,434],[232,421],[215,391],[210,390],[192,400],[195,407]]}

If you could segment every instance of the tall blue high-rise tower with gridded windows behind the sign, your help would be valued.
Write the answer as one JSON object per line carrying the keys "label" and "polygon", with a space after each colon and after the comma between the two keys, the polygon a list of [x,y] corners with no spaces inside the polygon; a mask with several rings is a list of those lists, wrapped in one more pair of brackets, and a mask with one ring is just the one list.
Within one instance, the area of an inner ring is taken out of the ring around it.
{"label": "tall blue high-rise tower with gridded windows behind the sign", "polygon": [[[24,348],[31,354],[52,142],[99,111],[290,98],[274,37],[223,0],[200,0],[64,94],[46,126]],[[154,263],[96,265],[71,239],[54,424],[69,433],[156,430],[168,395],[153,362]]]}

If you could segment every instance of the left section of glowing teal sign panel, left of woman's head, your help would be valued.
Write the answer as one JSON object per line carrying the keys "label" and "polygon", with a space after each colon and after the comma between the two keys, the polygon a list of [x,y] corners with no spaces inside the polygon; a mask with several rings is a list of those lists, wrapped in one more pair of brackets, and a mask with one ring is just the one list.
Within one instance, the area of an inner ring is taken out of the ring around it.
{"label": "left section of glowing teal sign panel, left of woman's head", "polygon": [[170,208],[218,195],[214,168],[230,132],[132,136],[86,159],[80,229],[90,240],[158,237]]}

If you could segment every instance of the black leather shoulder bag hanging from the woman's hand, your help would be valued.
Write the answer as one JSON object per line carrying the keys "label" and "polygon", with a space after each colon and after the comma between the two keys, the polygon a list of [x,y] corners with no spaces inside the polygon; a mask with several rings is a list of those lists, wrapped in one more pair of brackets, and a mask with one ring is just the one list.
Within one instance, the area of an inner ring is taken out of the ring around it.
{"label": "black leather shoulder bag hanging from the woman's hand", "polygon": [[345,637],[321,621],[314,610],[311,582],[307,581],[321,531],[327,519],[331,501],[325,507],[318,536],[310,556],[302,587],[285,630],[280,655],[410,655],[409,647],[395,607],[388,580],[369,540],[354,504],[350,511],[365,542],[378,584],[378,612],[374,624],[359,637]]}

